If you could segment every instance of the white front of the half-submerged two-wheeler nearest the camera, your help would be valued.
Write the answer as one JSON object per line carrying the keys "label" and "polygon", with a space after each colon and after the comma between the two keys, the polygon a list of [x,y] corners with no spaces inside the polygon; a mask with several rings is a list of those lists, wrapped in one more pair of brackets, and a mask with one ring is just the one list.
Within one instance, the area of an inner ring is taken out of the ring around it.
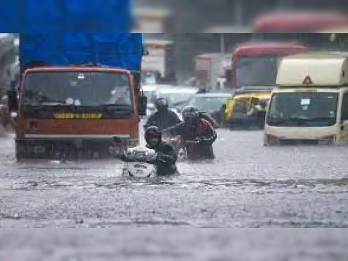
{"label": "white front of the half-submerged two-wheeler nearest the camera", "polygon": [[129,148],[126,155],[124,155],[122,176],[132,178],[149,178],[156,176],[156,166],[148,163],[148,161],[156,157],[157,152],[145,146],[139,145],[134,148]]}

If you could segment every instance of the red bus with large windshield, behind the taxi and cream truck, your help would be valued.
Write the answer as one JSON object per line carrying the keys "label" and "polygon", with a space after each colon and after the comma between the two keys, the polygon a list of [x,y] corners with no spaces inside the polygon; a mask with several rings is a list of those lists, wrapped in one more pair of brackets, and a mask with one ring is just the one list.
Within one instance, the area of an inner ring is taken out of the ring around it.
{"label": "red bus with large windshield, behind the taxi and cream truck", "polygon": [[279,58],[308,52],[293,42],[248,42],[232,55],[232,88],[275,86]]}

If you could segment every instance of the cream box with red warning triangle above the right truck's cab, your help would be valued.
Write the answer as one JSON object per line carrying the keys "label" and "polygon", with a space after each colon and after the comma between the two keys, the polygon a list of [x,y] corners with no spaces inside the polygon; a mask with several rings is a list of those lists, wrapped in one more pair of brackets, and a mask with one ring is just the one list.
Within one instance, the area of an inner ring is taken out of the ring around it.
{"label": "cream box with red warning triangle above the right truck's cab", "polygon": [[277,87],[339,87],[347,84],[348,57],[345,55],[290,55],[279,63]]}

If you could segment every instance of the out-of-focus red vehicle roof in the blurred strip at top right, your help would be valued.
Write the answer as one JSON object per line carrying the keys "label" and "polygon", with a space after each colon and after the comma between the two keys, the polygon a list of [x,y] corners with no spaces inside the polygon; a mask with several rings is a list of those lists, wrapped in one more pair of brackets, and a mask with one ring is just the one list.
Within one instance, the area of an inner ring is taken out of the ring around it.
{"label": "out-of-focus red vehicle roof in the blurred strip at top right", "polygon": [[253,33],[303,33],[330,30],[330,28],[348,26],[348,16],[338,12],[293,11],[274,12],[257,17],[253,24]]}

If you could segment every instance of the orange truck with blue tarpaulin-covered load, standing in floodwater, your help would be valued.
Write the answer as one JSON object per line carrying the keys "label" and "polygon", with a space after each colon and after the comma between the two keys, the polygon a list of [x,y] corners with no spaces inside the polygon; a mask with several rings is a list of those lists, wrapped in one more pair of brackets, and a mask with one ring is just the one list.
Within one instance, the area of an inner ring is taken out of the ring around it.
{"label": "orange truck with blue tarpaulin-covered load, standing in floodwater", "polygon": [[21,33],[19,100],[8,92],[17,160],[110,158],[137,145],[142,55],[141,33]]}

